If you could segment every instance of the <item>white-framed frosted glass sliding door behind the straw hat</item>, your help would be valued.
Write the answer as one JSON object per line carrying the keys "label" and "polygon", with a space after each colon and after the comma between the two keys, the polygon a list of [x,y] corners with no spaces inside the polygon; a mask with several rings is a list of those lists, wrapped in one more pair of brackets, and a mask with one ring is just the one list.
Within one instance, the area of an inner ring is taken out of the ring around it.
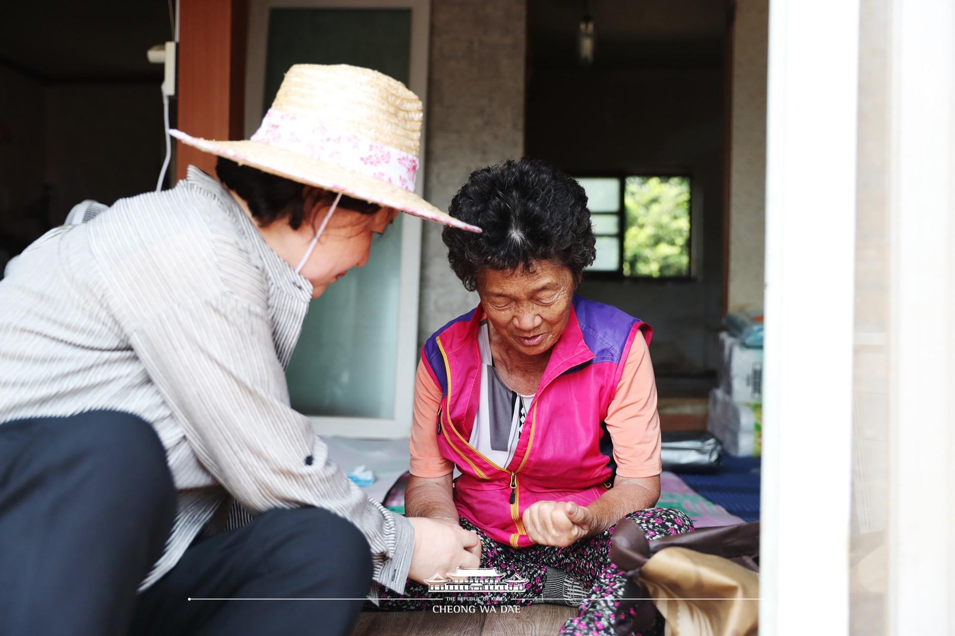
{"label": "white-framed frosted glass sliding door behind the straw hat", "polygon": [[[252,0],[246,133],[254,132],[293,64],[371,68],[425,101],[428,20],[427,2]],[[365,267],[312,301],[286,377],[292,406],[309,415],[320,433],[409,433],[420,241],[421,221],[399,215],[375,239]]]}

